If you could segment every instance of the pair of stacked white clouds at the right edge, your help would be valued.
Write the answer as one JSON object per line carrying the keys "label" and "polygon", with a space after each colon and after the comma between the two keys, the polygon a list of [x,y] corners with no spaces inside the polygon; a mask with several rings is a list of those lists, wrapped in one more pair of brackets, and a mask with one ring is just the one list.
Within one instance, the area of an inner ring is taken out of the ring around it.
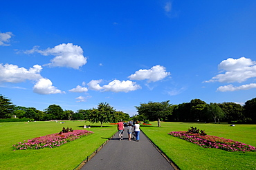
{"label": "pair of stacked white clouds at the right edge", "polygon": [[[205,81],[206,83],[210,82],[221,82],[221,83],[242,83],[247,81],[249,78],[256,77],[256,62],[251,59],[246,59],[241,57],[239,59],[226,59],[222,61],[219,65],[220,74],[214,76],[210,81]],[[220,92],[227,91],[236,91],[236,90],[245,90],[255,88],[255,84],[251,83],[248,85],[241,85],[235,87],[233,85],[221,86],[217,89]]]}

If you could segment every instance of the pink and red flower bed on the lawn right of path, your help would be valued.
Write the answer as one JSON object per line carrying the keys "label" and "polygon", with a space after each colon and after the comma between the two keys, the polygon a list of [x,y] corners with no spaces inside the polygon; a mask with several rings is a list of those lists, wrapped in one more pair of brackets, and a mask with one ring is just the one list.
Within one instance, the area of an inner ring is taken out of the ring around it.
{"label": "pink and red flower bed on the lawn right of path", "polygon": [[216,148],[226,151],[256,151],[253,146],[217,136],[200,136],[198,134],[188,134],[186,131],[171,131],[169,134],[204,148]]}

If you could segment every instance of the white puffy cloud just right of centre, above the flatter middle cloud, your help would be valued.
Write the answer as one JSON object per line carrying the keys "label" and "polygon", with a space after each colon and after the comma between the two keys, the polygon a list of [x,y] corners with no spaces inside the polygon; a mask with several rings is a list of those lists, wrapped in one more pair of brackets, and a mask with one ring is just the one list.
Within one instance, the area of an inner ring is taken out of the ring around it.
{"label": "white puffy cloud just right of centre, above the flatter middle cloud", "polygon": [[128,78],[130,78],[130,80],[138,80],[138,81],[147,79],[148,83],[152,81],[156,82],[171,75],[170,72],[165,72],[165,71],[166,71],[165,67],[161,65],[155,65],[149,70],[138,70],[135,72],[135,74],[131,74],[131,76],[129,76]]}

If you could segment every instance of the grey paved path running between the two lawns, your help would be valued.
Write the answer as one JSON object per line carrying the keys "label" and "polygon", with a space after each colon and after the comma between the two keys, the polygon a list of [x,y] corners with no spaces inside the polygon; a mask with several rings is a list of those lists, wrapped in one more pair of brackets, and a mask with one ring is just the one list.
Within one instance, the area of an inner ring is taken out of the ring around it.
{"label": "grey paved path running between the two lawns", "polygon": [[140,131],[140,141],[129,141],[127,130],[124,139],[119,140],[118,134],[113,136],[82,170],[100,169],[174,169],[158,150]]}

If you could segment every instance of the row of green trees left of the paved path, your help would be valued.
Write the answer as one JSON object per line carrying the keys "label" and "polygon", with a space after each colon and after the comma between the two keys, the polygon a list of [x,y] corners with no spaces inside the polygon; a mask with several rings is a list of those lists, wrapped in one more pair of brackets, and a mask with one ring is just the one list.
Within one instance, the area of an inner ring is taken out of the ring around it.
{"label": "row of green trees left of the paved path", "polygon": [[88,120],[91,123],[116,123],[118,120],[129,120],[129,114],[116,111],[109,103],[99,103],[98,107],[91,109],[63,110],[60,105],[49,105],[44,111],[35,107],[22,107],[12,105],[10,99],[0,95],[0,119],[4,118],[30,118],[37,121],[46,120]]}

